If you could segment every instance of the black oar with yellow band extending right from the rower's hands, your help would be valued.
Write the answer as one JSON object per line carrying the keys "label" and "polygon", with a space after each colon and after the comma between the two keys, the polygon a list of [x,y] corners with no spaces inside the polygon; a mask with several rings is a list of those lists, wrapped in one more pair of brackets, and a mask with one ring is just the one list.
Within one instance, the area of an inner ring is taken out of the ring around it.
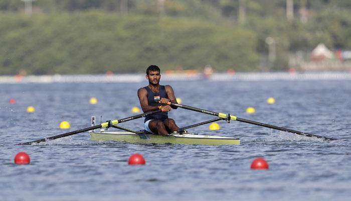
{"label": "black oar with yellow band extending right from the rower's hands", "polygon": [[234,120],[234,121],[239,121],[239,122],[245,122],[248,124],[254,124],[257,126],[263,126],[266,128],[270,128],[270,129],[276,129],[276,130],[280,130],[280,131],[285,131],[285,132],[289,132],[289,133],[295,133],[297,135],[303,135],[303,136],[307,136],[307,137],[316,137],[316,138],[320,138],[323,140],[336,140],[335,138],[328,138],[328,137],[323,137],[323,136],[319,136],[319,135],[314,135],[314,134],[310,134],[310,133],[304,133],[304,132],[300,132],[300,131],[294,131],[291,129],[287,129],[287,128],[282,128],[282,127],[278,127],[278,126],[273,126],[273,125],[269,125],[269,124],[263,124],[260,122],[254,122],[251,120],[246,120],[246,119],[241,119],[239,117],[236,117],[234,115],[230,115],[230,114],[224,114],[224,113],[216,113],[216,112],[211,112],[211,111],[207,111],[207,110],[203,110],[203,109],[199,109],[199,108],[194,108],[191,106],[185,106],[185,105],[181,105],[181,104],[173,104],[168,102],[167,105],[170,106],[174,106],[174,107],[179,107],[179,108],[183,108],[183,109],[187,109],[187,110],[191,110],[191,111],[195,111],[195,112],[199,112],[199,113],[204,113],[204,114],[208,114],[208,115],[213,115],[216,117],[220,117],[222,119],[225,120]]}

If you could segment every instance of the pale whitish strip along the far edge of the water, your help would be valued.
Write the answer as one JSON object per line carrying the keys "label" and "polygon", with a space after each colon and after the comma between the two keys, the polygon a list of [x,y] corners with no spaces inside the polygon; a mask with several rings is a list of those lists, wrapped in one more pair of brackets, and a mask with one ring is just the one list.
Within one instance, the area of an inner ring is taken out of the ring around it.
{"label": "pale whitish strip along the far edge of the water", "polygon": [[[273,81],[273,80],[351,80],[351,72],[240,72],[235,74],[214,73],[208,78],[202,73],[162,74],[162,81],[208,80],[208,81]],[[136,74],[92,74],[92,75],[28,75],[0,76],[5,83],[132,83],[145,81],[145,75]]]}

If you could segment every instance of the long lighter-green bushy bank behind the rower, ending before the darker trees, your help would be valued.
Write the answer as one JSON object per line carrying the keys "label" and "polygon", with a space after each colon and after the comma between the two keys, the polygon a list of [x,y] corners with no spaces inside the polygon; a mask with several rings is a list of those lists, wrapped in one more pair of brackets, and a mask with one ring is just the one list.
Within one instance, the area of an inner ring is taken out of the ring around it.
{"label": "long lighter-green bushy bank behind the rower, ending before the darker trees", "polygon": [[[0,15],[0,73],[142,72],[158,64],[255,69],[256,36],[200,19],[118,16],[98,11]],[[238,51],[240,50],[240,51]]]}

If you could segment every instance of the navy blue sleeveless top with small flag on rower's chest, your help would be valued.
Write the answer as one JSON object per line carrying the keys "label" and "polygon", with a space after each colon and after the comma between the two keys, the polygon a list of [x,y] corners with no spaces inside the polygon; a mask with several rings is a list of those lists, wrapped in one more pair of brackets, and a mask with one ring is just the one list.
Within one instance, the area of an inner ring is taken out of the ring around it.
{"label": "navy blue sleeveless top with small flag on rower's chest", "polygon": [[[152,92],[148,86],[145,86],[144,89],[146,89],[147,91],[147,101],[149,106],[160,106],[161,104],[158,103],[159,100],[162,97],[168,98],[164,85],[159,85],[158,93]],[[166,119],[168,119],[168,112],[155,113],[155,114],[146,116],[144,123],[148,120],[160,120],[163,122]]]}

